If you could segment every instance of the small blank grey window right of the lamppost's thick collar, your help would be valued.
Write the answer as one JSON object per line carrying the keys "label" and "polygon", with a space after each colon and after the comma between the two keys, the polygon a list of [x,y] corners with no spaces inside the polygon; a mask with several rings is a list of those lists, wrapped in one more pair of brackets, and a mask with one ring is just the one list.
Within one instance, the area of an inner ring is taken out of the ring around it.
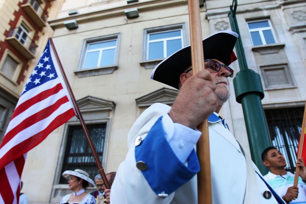
{"label": "small blank grey window right of the lamppost's thick collar", "polygon": [[288,65],[261,66],[260,69],[266,88],[286,88],[294,86]]}

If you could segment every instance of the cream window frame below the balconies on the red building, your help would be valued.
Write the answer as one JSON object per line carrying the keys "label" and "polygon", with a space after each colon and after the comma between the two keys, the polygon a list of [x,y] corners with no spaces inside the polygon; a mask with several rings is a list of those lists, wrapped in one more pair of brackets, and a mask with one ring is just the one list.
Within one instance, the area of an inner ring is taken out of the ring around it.
{"label": "cream window frame below the balconies on the red building", "polygon": [[[6,61],[6,58],[7,56],[10,56],[13,58],[13,60],[17,61],[18,62],[18,65],[14,71],[14,74],[13,74],[13,77],[12,78],[9,78],[9,76],[6,76],[3,72],[2,72],[2,68],[4,66],[4,63]],[[0,74],[2,76],[4,76],[7,80],[9,80],[10,82],[12,82],[14,85],[17,85],[17,80],[18,80],[18,77],[20,75],[20,71],[21,71],[21,68],[23,66],[23,62],[16,56],[14,55],[9,49],[6,49],[4,51],[4,54],[1,58],[1,61],[0,61]]]}

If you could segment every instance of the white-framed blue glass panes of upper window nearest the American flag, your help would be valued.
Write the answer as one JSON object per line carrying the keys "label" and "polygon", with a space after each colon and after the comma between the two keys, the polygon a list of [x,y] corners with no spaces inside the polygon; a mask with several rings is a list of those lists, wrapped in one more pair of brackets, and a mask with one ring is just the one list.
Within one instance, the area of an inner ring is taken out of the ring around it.
{"label": "white-framed blue glass panes of upper window nearest the American flag", "polygon": [[117,39],[88,43],[84,69],[114,65]]}

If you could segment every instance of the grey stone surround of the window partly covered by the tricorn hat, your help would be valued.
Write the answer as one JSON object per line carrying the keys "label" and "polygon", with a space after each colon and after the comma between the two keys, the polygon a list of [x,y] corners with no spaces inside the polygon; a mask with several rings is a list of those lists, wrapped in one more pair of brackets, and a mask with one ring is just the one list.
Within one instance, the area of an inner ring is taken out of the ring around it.
{"label": "grey stone surround of the window partly covered by the tricorn hat", "polygon": [[[142,60],[143,61],[159,61],[163,60],[166,57],[159,58],[159,59],[148,59],[149,55],[149,34],[155,34],[155,33],[162,33],[162,32],[169,32],[169,31],[175,31],[175,30],[181,30],[181,39],[182,39],[182,48],[187,45],[187,33],[186,33],[186,23],[179,23],[179,24],[172,24],[172,25],[165,25],[165,26],[159,26],[159,27],[153,27],[153,28],[146,28],[144,29],[144,41],[143,41],[143,52],[142,52]],[[165,50],[165,45],[164,50]],[[164,52],[164,56],[167,53]]]}

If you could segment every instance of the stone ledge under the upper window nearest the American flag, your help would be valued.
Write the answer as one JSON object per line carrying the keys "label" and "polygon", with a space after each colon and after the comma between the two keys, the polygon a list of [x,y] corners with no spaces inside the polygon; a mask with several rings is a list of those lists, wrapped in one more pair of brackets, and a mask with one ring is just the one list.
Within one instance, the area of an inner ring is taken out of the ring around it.
{"label": "stone ledge under the upper window nearest the American flag", "polygon": [[116,69],[118,69],[118,65],[107,65],[99,68],[93,68],[93,69],[80,69],[75,70],[74,73],[79,78],[81,77],[87,77],[87,76],[98,76],[98,75],[104,75],[104,74],[111,74]]}

